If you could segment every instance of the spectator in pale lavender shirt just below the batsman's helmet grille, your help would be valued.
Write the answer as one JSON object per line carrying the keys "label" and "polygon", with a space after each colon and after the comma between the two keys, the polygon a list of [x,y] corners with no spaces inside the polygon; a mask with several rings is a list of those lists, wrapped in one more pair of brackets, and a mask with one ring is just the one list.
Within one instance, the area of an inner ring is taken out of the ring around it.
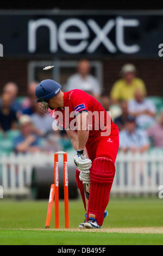
{"label": "spectator in pale lavender shirt just below the batsman's helmet grille", "polygon": [[[46,114],[40,109],[40,105],[36,104],[35,113],[31,115],[31,120],[36,127],[42,133],[42,136],[52,131],[52,124],[54,119],[51,115]],[[40,134],[41,135],[41,134]]]}

